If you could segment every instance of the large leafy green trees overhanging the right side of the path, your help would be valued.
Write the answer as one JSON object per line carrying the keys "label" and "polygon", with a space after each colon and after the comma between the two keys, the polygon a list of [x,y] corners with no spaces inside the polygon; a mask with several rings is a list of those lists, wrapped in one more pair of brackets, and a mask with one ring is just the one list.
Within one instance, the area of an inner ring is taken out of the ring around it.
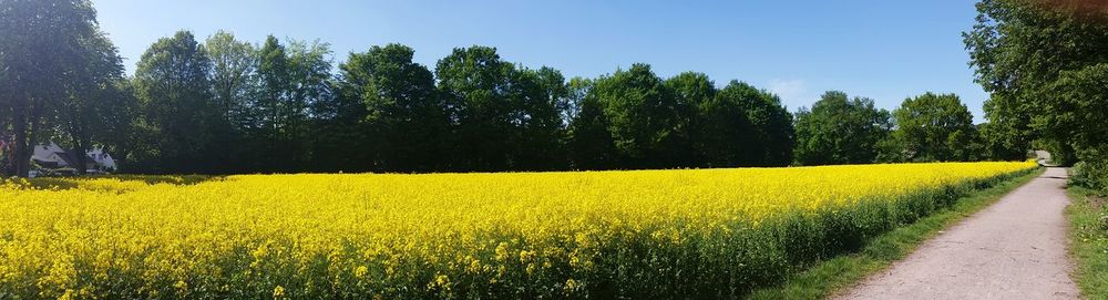
{"label": "large leafy green trees overhanging the right side of the path", "polygon": [[991,143],[1045,148],[1075,182],[1108,189],[1108,4],[983,0],[964,34]]}

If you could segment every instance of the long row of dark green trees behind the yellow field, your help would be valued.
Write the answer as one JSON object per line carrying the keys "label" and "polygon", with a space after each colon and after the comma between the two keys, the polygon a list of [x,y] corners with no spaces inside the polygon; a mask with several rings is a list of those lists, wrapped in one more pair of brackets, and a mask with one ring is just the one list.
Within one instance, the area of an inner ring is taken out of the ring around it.
{"label": "long row of dark green trees behind the yellow field", "polygon": [[[790,113],[750,84],[648,64],[594,79],[458,48],[401,44],[335,64],[319,41],[219,31],[154,42],[133,76],[80,0],[0,1],[0,136],[11,175],[48,139],[103,146],[123,172],[497,172],[1020,159],[953,94],[893,112],[828,92]],[[83,158],[83,157],[82,157]]]}

